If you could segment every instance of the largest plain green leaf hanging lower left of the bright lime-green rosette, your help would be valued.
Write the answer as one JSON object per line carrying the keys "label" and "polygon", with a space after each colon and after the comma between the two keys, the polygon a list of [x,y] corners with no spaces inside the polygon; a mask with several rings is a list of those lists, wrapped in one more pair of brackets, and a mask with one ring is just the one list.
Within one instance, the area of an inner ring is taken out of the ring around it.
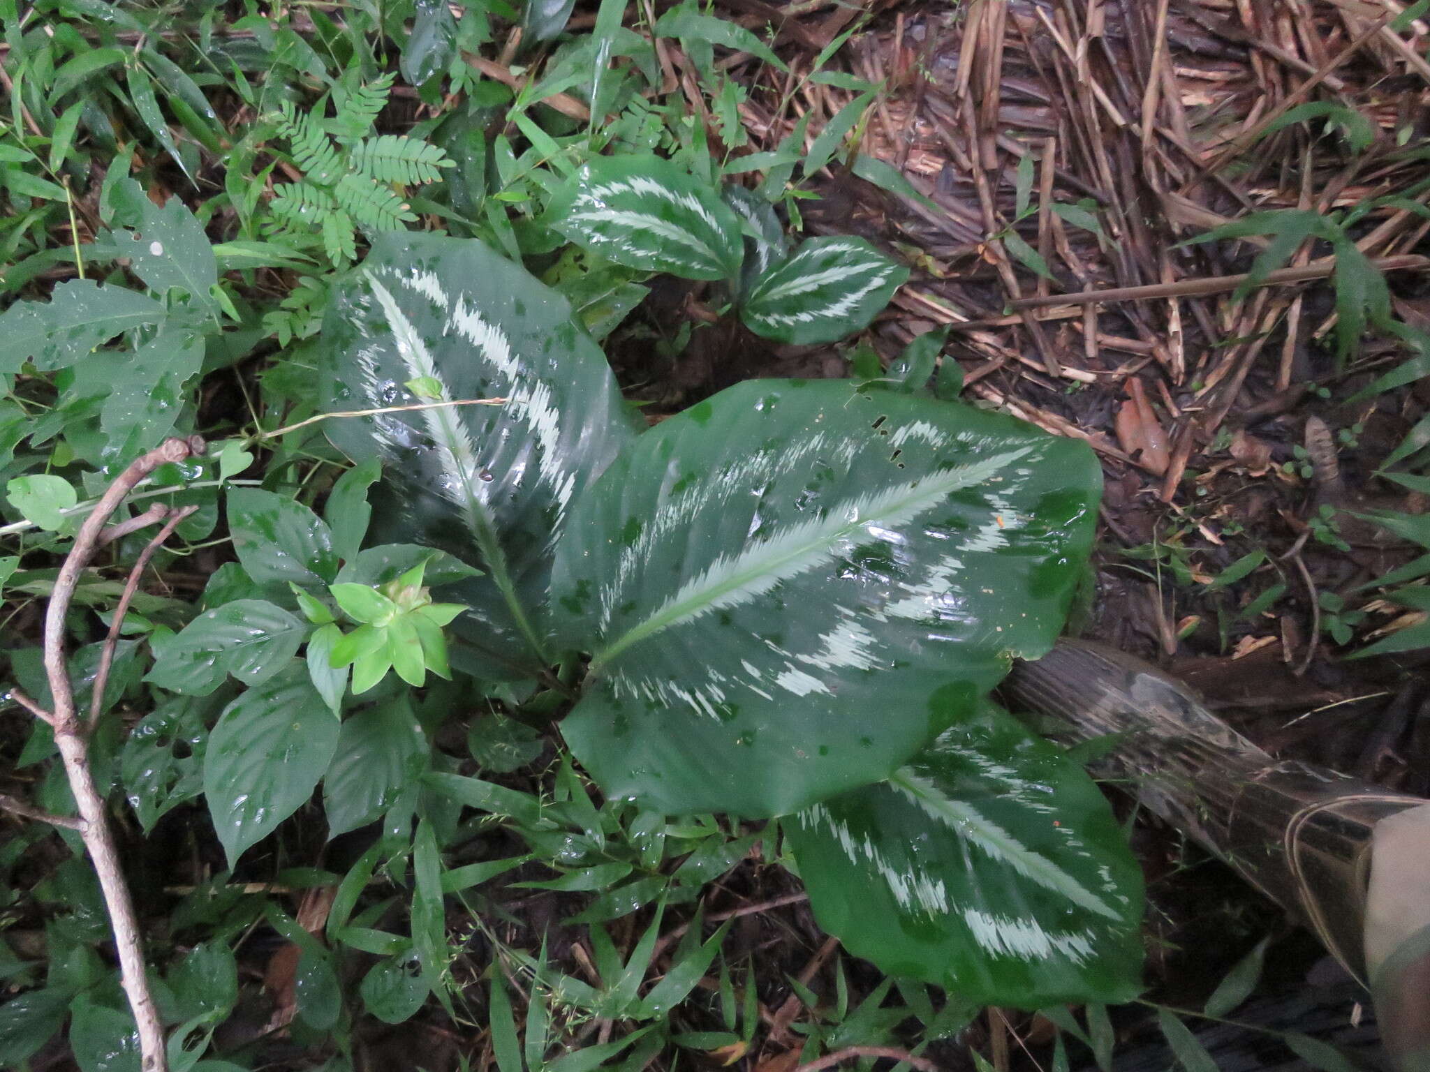
{"label": "largest plain green leaf hanging lower left of the bright lime-green rosette", "polygon": [[229,866],[307,800],[336,748],[337,719],[302,663],[223,710],[203,758],[203,792]]}

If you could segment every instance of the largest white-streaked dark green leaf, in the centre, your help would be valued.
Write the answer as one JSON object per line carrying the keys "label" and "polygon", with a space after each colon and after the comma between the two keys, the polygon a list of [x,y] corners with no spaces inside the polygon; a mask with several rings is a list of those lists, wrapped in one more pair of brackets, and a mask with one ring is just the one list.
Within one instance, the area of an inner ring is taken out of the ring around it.
{"label": "largest white-streaked dark green leaf, in the centre", "polygon": [[562,732],[608,796],[782,815],[887,778],[1062,626],[1101,473],[1011,417],[845,380],[752,380],[581,497]]}

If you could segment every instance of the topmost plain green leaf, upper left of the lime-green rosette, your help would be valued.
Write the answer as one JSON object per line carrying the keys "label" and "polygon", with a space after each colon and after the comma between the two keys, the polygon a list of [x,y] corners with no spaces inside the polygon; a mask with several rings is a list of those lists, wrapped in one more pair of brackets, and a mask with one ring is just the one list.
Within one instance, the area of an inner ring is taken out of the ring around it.
{"label": "topmost plain green leaf, upper left of the lime-green rosette", "polygon": [[327,525],[286,495],[229,489],[229,532],[239,562],[260,585],[319,587],[337,576]]}

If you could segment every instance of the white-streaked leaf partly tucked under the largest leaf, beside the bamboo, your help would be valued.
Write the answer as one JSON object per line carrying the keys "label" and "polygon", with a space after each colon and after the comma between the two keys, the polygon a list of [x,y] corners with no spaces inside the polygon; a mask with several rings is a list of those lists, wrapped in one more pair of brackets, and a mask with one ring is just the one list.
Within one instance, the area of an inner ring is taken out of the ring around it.
{"label": "white-streaked leaf partly tucked under the largest leaf, beside the bamboo", "polygon": [[784,829],[819,925],[891,975],[1022,1008],[1140,989],[1141,873],[1117,819],[991,703]]}

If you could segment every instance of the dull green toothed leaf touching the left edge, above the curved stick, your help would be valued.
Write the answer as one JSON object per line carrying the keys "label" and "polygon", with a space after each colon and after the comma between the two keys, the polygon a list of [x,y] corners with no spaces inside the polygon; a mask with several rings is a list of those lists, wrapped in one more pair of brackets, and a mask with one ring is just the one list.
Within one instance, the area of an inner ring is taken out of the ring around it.
{"label": "dull green toothed leaf touching the left edge, above the curved stick", "polygon": [[54,287],[49,302],[16,302],[0,314],[0,373],[20,372],[27,360],[40,372],[67,367],[116,334],[164,316],[152,297],[72,279]]}

